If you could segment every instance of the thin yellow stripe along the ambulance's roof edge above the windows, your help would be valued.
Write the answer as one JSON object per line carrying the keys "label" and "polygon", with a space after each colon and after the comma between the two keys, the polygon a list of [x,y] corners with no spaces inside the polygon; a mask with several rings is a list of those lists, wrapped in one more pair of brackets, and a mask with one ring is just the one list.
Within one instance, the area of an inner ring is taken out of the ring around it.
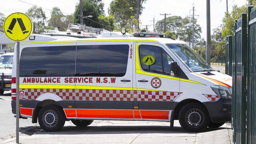
{"label": "thin yellow stripe along the ambulance's roof edge above the windows", "polygon": [[68,42],[115,42],[115,41],[150,41],[158,42],[150,39],[111,39],[111,40],[85,40],[85,41],[49,41],[49,42],[25,42],[20,44],[52,44],[52,43],[68,43]]}

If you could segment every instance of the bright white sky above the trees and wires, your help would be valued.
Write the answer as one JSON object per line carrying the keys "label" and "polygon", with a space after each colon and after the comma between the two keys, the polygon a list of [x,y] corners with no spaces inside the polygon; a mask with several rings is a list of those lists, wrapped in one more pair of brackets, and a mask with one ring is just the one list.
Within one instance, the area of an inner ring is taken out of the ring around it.
{"label": "bright white sky above the trees and wires", "polygon": [[[74,13],[76,4],[79,0],[0,0],[1,9],[0,12],[4,13],[6,16],[14,12],[26,13],[26,11],[36,5],[43,7],[47,19],[50,18],[50,11],[47,9],[52,9],[52,7],[59,7],[64,15]],[[23,1],[23,2],[22,2]],[[105,14],[108,15],[108,7],[112,0],[102,0],[105,4],[104,10]],[[26,2],[26,3],[25,3]],[[29,3],[29,4],[27,4]],[[197,23],[202,27],[202,38],[206,39],[206,0],[147,0],[143,3],[142,14],[140,15],[141,28],[145,28],[144,25],[151,25],[153,18],[155,20],[161,20],[164,18],[164,13],[171,14],[169,16],[181,16],[182,18],[192,15],[190,11],[195,5],[195,18],[197,18]],[[228,0],[228,11],[232,10],[232,6],[237,4],[242,6],[246,4],[246,0]],[[217,28],[224,17],[224,12],[226,11],[226,0],[211,0],[211,32],[212,29]],[[153,31],[153,25],[148,27],[150,31]]]}

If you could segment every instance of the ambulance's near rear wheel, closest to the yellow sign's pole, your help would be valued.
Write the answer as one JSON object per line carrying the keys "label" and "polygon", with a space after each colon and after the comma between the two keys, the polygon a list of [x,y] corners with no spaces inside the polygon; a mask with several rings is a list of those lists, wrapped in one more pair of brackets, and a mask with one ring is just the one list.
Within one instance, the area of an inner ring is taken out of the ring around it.
{"label": "ambulance's near rear wheel, closest to the yellow sign's pole", "polygon": [[45,131],[59,131],[65,124],[65,114],[57,105],[46,105],[38,113],[38,123]]}

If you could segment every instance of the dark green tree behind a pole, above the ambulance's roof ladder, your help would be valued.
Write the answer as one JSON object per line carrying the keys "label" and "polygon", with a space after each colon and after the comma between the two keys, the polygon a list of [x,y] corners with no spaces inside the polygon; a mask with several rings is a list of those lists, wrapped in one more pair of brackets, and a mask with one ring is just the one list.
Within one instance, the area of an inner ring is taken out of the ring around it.
{"label": "dark green tree behind a pole, above the ambulance's roof ladder", "polygon": [[[91,20],[98,21],[98,17],[102,14],[102,10],[100,10],[102,5],[99,5],[96,0],[83,0],[83,17],[92,15]],[[80,4],[76,5],[74,12],[74,23],[80,23]],[[87,18],[83,18],[83,24],[86,26],[92,26],[94,28],[99,28],[100,25],[91,21]]]}

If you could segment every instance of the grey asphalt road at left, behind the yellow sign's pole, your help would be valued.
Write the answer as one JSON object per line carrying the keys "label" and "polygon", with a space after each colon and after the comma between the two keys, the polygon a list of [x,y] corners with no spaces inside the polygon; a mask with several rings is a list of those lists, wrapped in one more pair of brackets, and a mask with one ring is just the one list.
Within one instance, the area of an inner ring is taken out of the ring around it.
{"label": "grey asphalt road at left, behind the yellow sign's pole", "polygon": [[[4,100],[3,100],[4,99]],[[31,119],[20,119],[20,131],[35,126]],[[15,137],[16,118],[11,112],[11,90],[0,95],[0,143],[7,138]]]}

